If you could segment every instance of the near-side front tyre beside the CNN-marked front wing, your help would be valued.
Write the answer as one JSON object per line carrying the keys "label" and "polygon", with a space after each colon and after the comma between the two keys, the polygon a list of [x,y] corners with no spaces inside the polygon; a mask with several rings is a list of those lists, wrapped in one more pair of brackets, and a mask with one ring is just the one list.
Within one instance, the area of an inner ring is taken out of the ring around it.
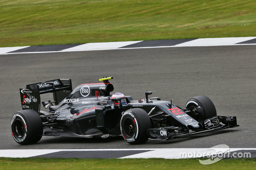
{"label": "near-side front tyre beside the CNN-marked front wing", "polygon": [[141,108],[126,110],[121,118],[121,133],[129,144],[142,144],[148,141],[147,131],[152,127],[147,112]]}

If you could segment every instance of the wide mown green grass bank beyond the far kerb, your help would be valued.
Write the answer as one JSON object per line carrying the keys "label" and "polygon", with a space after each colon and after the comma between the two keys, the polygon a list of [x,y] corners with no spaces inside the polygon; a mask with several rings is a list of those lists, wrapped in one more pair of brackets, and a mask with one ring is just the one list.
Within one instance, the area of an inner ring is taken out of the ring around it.
{"label": "wide mown green grass bank beyond the far kerb", "polygon": [[256,36],[255,0],[0,0],[0,47]]}

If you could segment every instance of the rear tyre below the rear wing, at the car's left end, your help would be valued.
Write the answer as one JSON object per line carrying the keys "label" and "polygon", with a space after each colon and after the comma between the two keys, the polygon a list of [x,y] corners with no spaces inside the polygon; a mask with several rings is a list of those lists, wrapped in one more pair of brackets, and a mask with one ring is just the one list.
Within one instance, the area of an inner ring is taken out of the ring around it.
{"label": "rear tyre below the rear wing, at the car's left end", "polygon": [[33,144],[43,135],[43,123],[34,110],[21,110],[12,115],[12,137],[18,144]]}

